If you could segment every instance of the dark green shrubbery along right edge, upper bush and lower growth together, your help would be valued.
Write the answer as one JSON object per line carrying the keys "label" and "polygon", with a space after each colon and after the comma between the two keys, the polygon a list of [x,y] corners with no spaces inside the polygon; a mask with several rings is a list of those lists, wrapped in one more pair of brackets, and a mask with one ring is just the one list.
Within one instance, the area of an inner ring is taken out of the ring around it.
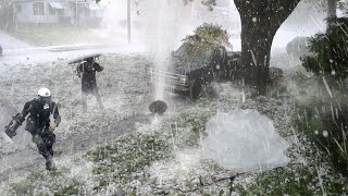
{"label": "dark green shrubbery along right edge, upper bush and lower growth together", "polygon": [[314,56],[301,58],[301,61],[307,71],[330,75],[327,83],[323,77],[321,91],[327,90],[331,98],[316,96],[311,102],[299,103],[297,123],[316,146],[327,152],[334,167],[348,176],[348,108],[341,79],[348,76],[348,19],[332,17],[327,24],[325,34],[316,34],[309,40],[309,49]]}

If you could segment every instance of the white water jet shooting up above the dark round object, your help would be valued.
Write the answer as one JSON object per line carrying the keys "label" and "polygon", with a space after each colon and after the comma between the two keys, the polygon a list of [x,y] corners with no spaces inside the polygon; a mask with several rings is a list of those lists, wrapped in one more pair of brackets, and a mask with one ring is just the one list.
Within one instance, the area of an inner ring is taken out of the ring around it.
{"label": "white water jet shooting up above the dark round object", "polygon": [[[157,69],[166,70],[169,57],[179,39],[179,10],[183,4],[177,0],[153,0],[141,7],[145,24],[144,38],[149,51],[153,53]],[[154,11],[157,10],[157,11]],[[164,81],[156,83],[154,99],[163,99]]]}

